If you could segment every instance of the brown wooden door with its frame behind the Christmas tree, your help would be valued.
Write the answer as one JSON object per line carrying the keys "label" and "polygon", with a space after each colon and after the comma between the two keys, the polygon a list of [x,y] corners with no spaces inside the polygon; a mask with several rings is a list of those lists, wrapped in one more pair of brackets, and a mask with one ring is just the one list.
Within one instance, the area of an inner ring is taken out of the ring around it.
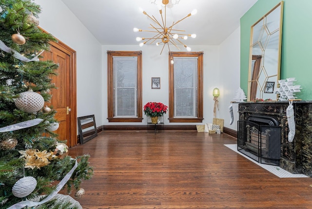
{"label": "brown wooden door with its frame behind the Christmas tree", "polygon": [[50,51],[45,51],[42,60],[59,63],[58,75],[52,77],[57,89],[51,89],[51,103],[57,111],[59,121],[59,140],[67,140],[67,146],[77,145],[77,108],[76,108],[76,52],[62,42],[51,42]]}

